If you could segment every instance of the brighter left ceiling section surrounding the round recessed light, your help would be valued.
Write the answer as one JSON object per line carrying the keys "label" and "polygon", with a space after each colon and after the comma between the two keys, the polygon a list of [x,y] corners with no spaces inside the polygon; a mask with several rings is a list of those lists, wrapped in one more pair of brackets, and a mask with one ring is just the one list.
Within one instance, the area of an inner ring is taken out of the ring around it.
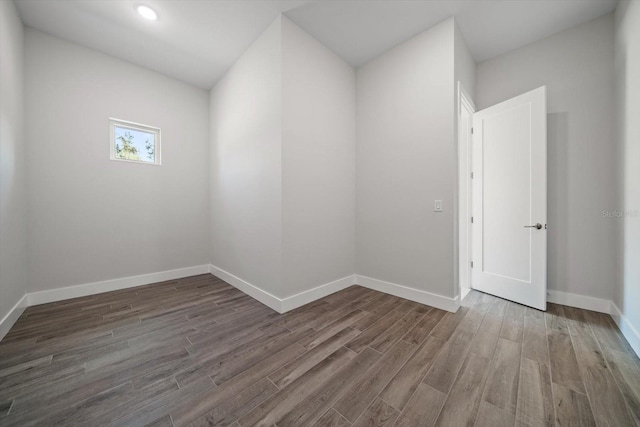
{"label": "brighter left ceiling section surrounding the round recessed light", "polygon": [[[4,0],[0,0],[4,1]],[[210,88],[279,13],[298,0],[16,0],[23,22],[49,34]],[[157,21],[136,12],[153,8]]]}

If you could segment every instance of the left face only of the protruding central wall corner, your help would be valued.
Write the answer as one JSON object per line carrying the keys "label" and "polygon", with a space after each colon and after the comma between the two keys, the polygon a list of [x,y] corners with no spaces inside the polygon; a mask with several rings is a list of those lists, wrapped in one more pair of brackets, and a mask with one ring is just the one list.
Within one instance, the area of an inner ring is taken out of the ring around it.
{"label": "left face only of the protruding central wall corner", "polygon": [[211,263],[282,283],[282,65],[276,19],[211,90]]}

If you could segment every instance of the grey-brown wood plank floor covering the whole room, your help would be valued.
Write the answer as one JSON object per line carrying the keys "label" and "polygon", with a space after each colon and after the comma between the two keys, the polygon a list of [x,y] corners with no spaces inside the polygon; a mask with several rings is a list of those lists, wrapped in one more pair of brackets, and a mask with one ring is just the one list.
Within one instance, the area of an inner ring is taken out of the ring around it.
{"label": "grey-brown wood plank floor covering the whole room", "polygon": [[560,305],[353,286],[279,315],[201,275],[28,308],[0,342],[0,425],[633,426],[640,361]]}

